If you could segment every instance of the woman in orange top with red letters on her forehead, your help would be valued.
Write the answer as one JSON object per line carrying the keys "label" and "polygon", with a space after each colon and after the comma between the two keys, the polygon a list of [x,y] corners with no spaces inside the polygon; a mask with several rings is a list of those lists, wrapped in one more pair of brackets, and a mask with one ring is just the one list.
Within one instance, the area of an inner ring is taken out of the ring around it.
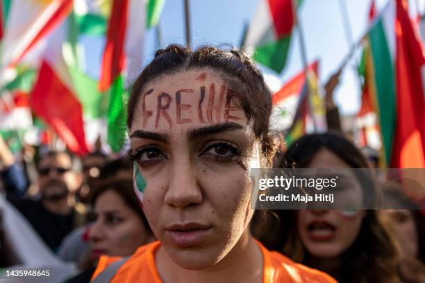
{"label": "woman in orange top with red letters on her forehead", "polygon": [[335,282],[253,239],[251,168],[269,166],[271,93],[241,51],[170,45],[128,101],[135,191],[158,241],[101,257],[92,282]]}

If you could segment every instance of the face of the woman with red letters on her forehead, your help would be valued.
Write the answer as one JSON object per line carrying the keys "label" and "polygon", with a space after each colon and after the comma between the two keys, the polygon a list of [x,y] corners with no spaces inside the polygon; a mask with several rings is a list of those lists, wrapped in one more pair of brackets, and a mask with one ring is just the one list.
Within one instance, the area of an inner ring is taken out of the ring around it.
{"label": "face of the woman with red letters on her forehead", "polygon": [[244,111],[215,71],[180,71],[143,90],[130,129],[147,182],[139,194],[169,257],[188,269],[212,266],[251,220],[249,168],[260,166]]}

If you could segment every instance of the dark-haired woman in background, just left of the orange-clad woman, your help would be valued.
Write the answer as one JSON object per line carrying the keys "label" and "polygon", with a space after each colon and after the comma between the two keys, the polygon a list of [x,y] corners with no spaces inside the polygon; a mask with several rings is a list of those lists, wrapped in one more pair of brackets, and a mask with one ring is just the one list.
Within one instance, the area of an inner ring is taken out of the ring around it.
{"label": "dark-haired woman in background, just left of the orange-clad woman", "polygon": [[[94,222],[88,228],[91,262],[101,255],[128,257],[140,246],[155,240],[149,223],[134,194],[131,178],[110,178],[92,193]],[[68,283],[90,282],[90,267]]]}

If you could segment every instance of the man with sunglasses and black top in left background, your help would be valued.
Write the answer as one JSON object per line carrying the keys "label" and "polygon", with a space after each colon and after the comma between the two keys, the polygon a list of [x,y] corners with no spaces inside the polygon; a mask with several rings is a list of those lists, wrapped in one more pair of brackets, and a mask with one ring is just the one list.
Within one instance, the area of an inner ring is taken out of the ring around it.
{"label": "man with sunglasses and black top in left background", "polygon": [[8,200],[17,207],[44,242],[56,252],[63,238],[86,222],[86,209],[76,203],[81,175],[73,169],[72,156],[49,151],[37,163],[40,199]]}

